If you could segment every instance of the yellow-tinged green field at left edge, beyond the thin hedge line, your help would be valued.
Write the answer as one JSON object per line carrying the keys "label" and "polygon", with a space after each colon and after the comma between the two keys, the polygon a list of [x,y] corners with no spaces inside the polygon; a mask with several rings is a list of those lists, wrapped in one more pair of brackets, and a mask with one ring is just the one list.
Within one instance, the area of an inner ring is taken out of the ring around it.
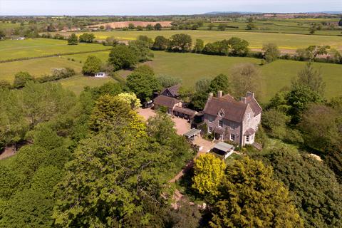
{"label": "yellow-tinged green field at left edge, beyond the thin hedge line", "polygon": [[6,40],[0,42],[0,60],[105,49],[108,47],[95,43],[68,45],[67,41],[48,38],[30,38],[24,41]]}

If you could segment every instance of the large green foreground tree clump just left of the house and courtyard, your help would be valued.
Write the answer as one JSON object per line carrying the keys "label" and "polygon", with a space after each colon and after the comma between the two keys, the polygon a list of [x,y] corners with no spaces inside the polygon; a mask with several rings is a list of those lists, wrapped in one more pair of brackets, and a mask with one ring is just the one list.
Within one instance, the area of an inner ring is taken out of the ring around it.
{"label": "large green foreground tree clump just left of the house and courtyard", "polygon": [[[158,114],[146,124],[128,104],[110,95],[100,97],[91,115],[91,123],[99,123],[103,128],[97,128],[83,140],[68,163],[66,175],[56,187],[55,223],[123,227],[179,223],[167,216],[172,210],[162,197],[167,183],[165,175],[178,162],[185,162],[192,150],[175,133],[170,117]],[[100,162],[104,169],[94,162]],[[89,186],[89,182],[95,185]],[[84,187],[90,191],[80,192]],[[79,197],[83,200],[79,201]],[[92,203],[94,199],[101,204]],[[114,209],[113,204],[121,206]]]}

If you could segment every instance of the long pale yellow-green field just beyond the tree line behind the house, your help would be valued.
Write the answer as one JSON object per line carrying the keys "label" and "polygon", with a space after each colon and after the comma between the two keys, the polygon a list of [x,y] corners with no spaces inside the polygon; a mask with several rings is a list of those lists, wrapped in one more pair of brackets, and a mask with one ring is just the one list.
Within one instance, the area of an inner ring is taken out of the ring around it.
{"label": "long pale yellow-green field just beyond the tree line behind the house", "polygon": [[[306,28],[302,28],[306,29]],[[98,39],[105,39],[114,36],[122,41],[131,41],[139,35],[146,35],[150,38],[156,36],[170,37],[175,33],[187,33],[192,36],[192,40],[201,38],[204,42],[212,42],[237,36],[249,41],[250,48],[261,48],[264,43],[276,43],[281,49],[294,50],[305,48],[310,45],[330,45],[333,48],[342,50],[342,38],[338,36],[316,36],[288,33],[261,33],[255,31],[202,31],[202,30],[162,30],[162,31],[99,31],[94,32]]]}

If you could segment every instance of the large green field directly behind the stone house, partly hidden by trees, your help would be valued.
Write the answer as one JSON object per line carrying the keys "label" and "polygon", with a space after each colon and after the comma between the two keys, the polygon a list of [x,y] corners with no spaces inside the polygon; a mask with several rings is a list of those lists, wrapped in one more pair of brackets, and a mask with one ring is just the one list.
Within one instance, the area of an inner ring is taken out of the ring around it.
{"label": "large green field directly behind the stone house, partly hidden by trees", "polygon": [[[149,62],[155,73],[165,73],[182,78],[185,86],[194,86],[199,78],[213,77],[219,73],[230,75],[232,66],[238,63],[260,63],[257,58],[239,58],[226,56],[206,56],[195,53],[167,53],[154,51],[155,58]],[[305,66],[305,62],[279,60],[265,66],[258,66],[262,78],[262,102],[269,100],[276,92],[290,86],[291,79]],[[342,65],[314,63],[321,68],[326,82],[326,97],[342,95]]]}

